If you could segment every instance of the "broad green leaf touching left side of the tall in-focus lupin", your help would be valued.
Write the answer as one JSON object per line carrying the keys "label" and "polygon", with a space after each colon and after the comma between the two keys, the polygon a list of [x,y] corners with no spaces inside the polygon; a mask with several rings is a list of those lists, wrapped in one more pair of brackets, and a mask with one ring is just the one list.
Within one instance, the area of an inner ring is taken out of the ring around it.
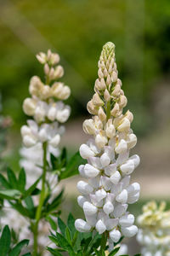
{"label": "broad green leaf touching left side of the tall in-focus lupin", "polygon": [[78,166],[82,163],[82,157],[80,156],[80,153],[77,152],[71,157],[71,160],[65,167],[65,171],[60,172],[59,180],[71,177],[78,174]]}

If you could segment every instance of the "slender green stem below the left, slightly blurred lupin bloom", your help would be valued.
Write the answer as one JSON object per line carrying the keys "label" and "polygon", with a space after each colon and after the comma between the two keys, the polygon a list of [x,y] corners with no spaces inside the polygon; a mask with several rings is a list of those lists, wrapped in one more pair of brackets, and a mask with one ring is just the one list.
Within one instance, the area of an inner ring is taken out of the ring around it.
{"label": "slender green stem below the left, slightly blurred lupin bloom", "polygon": [[42,206],[43,202],[45,200],[45,182],[46,182],[46,173],[47,173],[47,143],[42,144],[43,148],[43,170],[42,170],[42,190],[40,194],[40,199],[39,199],[39,204],[37,207],[37,212],[36,212],[36,223],[33,227],[33,235],[34,235],[34,251],[32,256],[37,256],[37,239],[38,239],[38,225],[39,221],[41,219],[42,215]]}

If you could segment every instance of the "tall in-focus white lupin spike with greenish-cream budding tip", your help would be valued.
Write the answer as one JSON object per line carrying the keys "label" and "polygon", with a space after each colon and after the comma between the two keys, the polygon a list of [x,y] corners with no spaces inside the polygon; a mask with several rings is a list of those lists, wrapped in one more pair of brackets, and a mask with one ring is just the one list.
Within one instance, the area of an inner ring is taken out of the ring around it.
{"label": "tall in-focus white lupin spike with greenish-cream budding tip", "polygon": [[75,226],[80,232],[106,232],[111,250],[121,236],[131,237],[138,231],[127,207],[139,200],[139,183],[130,184],[130,175],[139,166],[139,156],[129,157],[137,137],[130,128],[133,114],[122,113],[127,98],[117,78],[114,44],[103,47],[98,73],[95,94],[88,102],[88,111],[94,117],[83,123],[83,130],[93,138],[80,147],[80,154],[88,163],[79,166],[79,172],[88,182],[77,183],[82,194],[77,201],[86,221],[77,219]]}

